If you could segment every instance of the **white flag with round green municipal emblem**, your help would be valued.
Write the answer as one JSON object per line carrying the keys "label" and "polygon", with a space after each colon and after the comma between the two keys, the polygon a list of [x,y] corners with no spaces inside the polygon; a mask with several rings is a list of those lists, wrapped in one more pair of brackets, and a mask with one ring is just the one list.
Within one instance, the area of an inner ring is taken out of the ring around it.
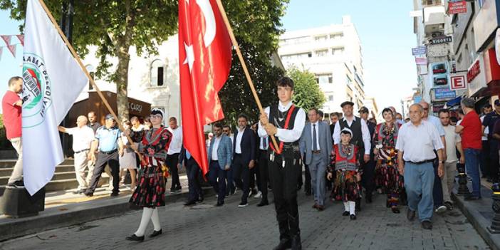
{"label": "white flag with round green municipal emblem", "polygon": [[63,162],[57,127],[88,79],[38,0],[28,0],[23,56],[23,173],[33,195]]}

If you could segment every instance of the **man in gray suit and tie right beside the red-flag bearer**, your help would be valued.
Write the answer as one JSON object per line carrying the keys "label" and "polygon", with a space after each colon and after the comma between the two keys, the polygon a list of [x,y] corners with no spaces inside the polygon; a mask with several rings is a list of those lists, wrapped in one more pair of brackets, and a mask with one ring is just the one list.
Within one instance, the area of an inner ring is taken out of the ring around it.
{"label": "man in gray suit and tie right beside the red-flag bearer", "polygon": [[323,211],[326,192],[325,172],[332,150],[330,127],[318,119],[316,108],[309,110],[308,118],[309,122],[302,130],[299,148],[303,162],[309,166],[311,172],[311,186],[314,193],[313,208]]}

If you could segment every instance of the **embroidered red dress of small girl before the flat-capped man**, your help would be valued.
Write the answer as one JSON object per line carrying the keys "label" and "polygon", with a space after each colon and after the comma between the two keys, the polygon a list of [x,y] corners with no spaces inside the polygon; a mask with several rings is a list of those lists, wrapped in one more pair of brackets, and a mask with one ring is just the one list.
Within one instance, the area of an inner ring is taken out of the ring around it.
{"label": "embroidered red dress of small girl before the flat-capped man", "polygon": [[356,159],[358,147],[353,144],[334,146],[335,149],[335,199],[343,202],[355,202],[360,197],[360,184],[358,183],[359,163]]}

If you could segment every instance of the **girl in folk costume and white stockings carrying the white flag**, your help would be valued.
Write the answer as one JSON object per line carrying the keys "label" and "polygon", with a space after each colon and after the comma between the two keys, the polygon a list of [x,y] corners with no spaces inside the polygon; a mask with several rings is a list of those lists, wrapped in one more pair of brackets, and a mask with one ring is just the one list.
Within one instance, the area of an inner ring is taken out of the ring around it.
{"label": "girl in folk costume and white stockings carrying the white flag", "polygon": [[138,139],[137,152],[142,155],[140,162],[141,175],[137,182],[137,188],[130,197],[130,203],[143,207],[142,219],[139,228],[131,236],[129,241],[143,241],[147,224],[151,219],[154,231],[150,237],[162,234],[160,218],[157,207],[165,206],[165,176],[164,164],[167,151],[172,140],[172,133],[162,125],[163,112],[157,108],[151,110],[150,130],[132,132],[132,137]]}

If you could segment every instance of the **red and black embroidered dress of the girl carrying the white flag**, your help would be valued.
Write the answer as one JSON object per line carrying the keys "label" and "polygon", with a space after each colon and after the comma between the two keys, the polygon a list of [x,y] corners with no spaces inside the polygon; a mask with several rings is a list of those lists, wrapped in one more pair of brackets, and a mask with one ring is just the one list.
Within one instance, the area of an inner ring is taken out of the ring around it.
{"label": "red and black embroidered dress of the girl carrying the white flag", "polygon": [[142,162],[137,188],[129,202],[139,207],[165,206],[165,177],[162,166],[165,164],[172,133],[162,126],[132,132],[132,137],[139,141],[138,151],[142,155]]}

